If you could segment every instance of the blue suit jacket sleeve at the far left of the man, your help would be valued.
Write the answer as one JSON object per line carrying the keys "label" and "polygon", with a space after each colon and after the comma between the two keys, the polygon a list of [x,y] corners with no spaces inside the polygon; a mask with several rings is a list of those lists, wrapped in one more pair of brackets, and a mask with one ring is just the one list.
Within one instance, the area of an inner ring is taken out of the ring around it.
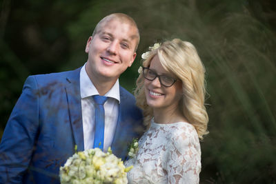
{"label": "blue suit jacket sleeve at the far left of the man", "polygon": [[23,85],[0,143],[0,183],[22,183],[39,130],[39,93],[34,76]]}

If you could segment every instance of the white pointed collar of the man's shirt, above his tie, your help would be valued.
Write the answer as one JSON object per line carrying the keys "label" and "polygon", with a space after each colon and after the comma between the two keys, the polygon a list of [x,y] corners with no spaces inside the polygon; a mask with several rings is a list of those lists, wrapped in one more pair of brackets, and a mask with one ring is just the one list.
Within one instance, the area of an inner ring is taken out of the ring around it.
{"label": "white pointed collar of the man's shirt, above his tie", "polygon": [[[86,72],[86,64],[81,68],[81,73],[79,76],[79,83],[81,88],[81,99],[84,99],[88,96],[93,96],[99,94],[95,85],[89,79],[89,76]],[[119,90],[119,79],[117,79],[116,83],[112,86],[112,88],[104,95],[113,99],[117,99],[120,103],[120,90]]]}

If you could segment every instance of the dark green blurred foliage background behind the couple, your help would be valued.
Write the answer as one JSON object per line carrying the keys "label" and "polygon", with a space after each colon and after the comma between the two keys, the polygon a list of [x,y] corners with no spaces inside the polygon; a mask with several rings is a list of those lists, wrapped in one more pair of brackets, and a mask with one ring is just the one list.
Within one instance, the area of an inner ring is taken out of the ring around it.
{"label": "dark green blurred foliage background behind the couple", "polygon": [[200,183],[276,183],[275,0],[0,2],[0,137],[27,76],[81,67],[95,25],[124,12],[141,32],[137,59],[120,78],[130,92],[141,53],[155,42],[190,41],[206,66]]}

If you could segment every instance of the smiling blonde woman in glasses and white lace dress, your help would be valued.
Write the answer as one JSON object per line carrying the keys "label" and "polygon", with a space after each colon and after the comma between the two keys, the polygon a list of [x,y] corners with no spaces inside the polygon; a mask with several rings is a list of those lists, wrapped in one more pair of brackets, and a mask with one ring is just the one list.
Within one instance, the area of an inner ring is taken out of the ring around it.
{"label": "smiling blonde woman in glasses and white lace dress", "polygon": [[149,129],[126,166],[128,183],[199,183],[199,139],[207,134],[204,65],[195,47],[173,39],[155,44],[137,79],[137,105]]}

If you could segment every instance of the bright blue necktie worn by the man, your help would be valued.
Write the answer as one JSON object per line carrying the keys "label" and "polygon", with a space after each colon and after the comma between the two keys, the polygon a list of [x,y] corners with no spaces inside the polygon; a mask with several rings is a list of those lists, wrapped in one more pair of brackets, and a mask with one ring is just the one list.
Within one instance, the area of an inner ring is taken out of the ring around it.
{"label": "bright blue necktie worn by the man", "polygon": [[95,101],[95,138],[94,138],[94,146],[99,147],[99,149],[103,150],[103,139],[104,139],[104,108],[103,104],[106,102],[108,97],[106,96],[93,96]]}

